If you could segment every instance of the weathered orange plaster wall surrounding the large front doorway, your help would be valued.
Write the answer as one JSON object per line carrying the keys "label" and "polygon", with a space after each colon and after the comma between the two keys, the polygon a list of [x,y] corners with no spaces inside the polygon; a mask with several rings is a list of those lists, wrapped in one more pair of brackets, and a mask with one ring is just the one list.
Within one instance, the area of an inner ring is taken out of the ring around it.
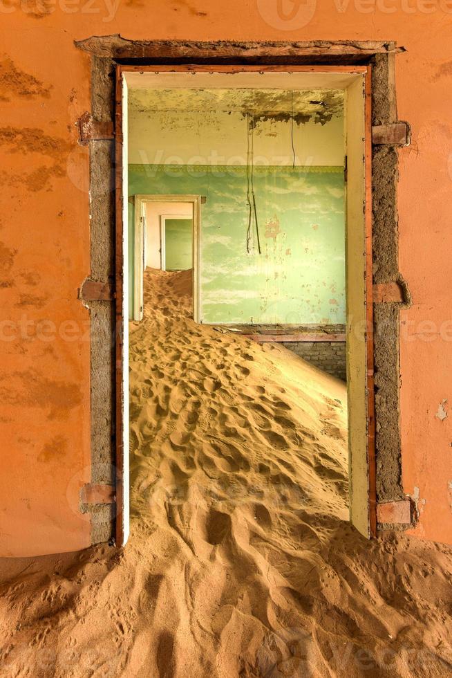
{"label": "weathered orange plaster wall surrounding the large front doorway", "polygon": [[415,533],[452,542],[452,413],[435,416],[451,398],[451,29],[446,0],[1,1],[1,553],[20,541],[36,553],[89,542],[76,499],[90,456],[88,311],[77,300],[89,274],[88,154],[75,120],[90,108],[90,59],[73,41],[111,33],[406,48],[397,56],[399,118],[413,129],[399,152],[399,261],[413,297],[400,349],[403,480],[407,493],[419,488]]}

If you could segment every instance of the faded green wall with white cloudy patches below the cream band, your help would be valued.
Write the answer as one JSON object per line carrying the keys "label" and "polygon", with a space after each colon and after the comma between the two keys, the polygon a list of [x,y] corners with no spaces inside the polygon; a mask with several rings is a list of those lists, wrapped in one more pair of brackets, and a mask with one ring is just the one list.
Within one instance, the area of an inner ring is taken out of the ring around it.
{"label": "faded green wall with white cloudy patches below the cream band", "polygon": [[343,167],[256,167],[254,192],[261,254],[255,235],[247,253],[245,167],[129,165],[129,195],[206,196],[203,322],[345,322]]}

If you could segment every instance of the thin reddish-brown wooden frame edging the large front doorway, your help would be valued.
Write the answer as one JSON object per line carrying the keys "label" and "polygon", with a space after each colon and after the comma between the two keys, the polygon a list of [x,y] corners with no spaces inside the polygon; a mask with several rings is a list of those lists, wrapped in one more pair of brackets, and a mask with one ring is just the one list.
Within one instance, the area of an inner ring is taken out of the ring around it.
{"label": "thin reddish-brown wooden frame edging the large front doorway", "polygon": [[[218,54],[220,56],[220,54]],[[122,444],[122,434],[124,424],[123,410],[121,403],[124,401],[122,364],[124,342],[122,341],[124,330],[124,318],[122,317],[122,294],[123,286],[123,190],[122,190],[122,76],[127,72],[143,73],[145,71],[157,72],[194,72],[194,73],[239,73],[254,72],[262,73],[264,71],[281,73],[350,73],[359,74],[364,77],[365,95],[364,95],[364,122],[365,122],[365,154],[364,166],[366,176],[366,190],[364,196],[364,214],[366,226],[366,356],[367,356],[367,375],[366,375],[366,393],[367,393],[367,441],[368,441],[368,508],[370,515],[370,535],[377,533],[377,500],[376,500],[376,463],[375,463],[375,398],[374,398],[374,354],[373,354],[373,271],[372,271],[372,110],[371,110],[371,66],[370,65],[352,65],[352,66],[331,66],[331,65],[223,65],[223,64],[174,64],[174,65],[154,65],[154,66],[136,66],[127,64],[117,64],[116,66],[116,97],[115,97],[115,283],[116,283],[116,467],[123,468],[124,445]],[[119,366],[119,367],[118,367]],[[123,515],[122,515],[122,490],[124,479],[118,479],[117,489],[117,511],[116,511],[116,542],[124,542]]]}

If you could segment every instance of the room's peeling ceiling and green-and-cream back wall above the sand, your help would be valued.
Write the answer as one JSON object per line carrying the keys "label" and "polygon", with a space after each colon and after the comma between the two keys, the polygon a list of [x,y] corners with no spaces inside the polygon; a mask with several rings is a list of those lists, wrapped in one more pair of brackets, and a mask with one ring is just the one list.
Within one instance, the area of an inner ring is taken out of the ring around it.
{"label": "room's peeling ceiling and green-and-cream back wall above the sand", "polygon": [[[168,214],[190,214],[178,196],[197,195],[196,321],[280,342],[345,381],[343,91],[135,83],[129,202],[138,195],[146,206],[142,214],[129,208],[131,318],[141,317],[133,297],[140,259],[165,270],[163,224]],[[178,248],[187,245],[187,223],[170,222]]]}

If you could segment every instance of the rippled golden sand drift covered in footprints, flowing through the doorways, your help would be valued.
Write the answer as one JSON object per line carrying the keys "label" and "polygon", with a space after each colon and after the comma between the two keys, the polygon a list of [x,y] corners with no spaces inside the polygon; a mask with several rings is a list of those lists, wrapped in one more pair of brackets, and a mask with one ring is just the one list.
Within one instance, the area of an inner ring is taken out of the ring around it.
{"label": "rippled golden sand drift covered in footprints, flowing through the doorways", "polygon": [[0,561],[0,675],[449,675],[452,549],[348,524],[344,386],[188,291],[131,324],[129,543]]}

